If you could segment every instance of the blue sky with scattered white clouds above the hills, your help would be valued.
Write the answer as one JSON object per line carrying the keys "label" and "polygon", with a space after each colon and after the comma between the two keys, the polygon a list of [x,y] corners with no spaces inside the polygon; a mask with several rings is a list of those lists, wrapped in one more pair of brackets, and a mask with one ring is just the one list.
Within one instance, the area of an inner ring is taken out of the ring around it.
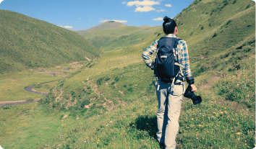
{"label": "blue sky with scattered white clouds above the hills", "polygon": [[69,30],[86,30],[107,20],[128,26],[163,24],[193,0],[0,0],[0,9],[25,14]]}

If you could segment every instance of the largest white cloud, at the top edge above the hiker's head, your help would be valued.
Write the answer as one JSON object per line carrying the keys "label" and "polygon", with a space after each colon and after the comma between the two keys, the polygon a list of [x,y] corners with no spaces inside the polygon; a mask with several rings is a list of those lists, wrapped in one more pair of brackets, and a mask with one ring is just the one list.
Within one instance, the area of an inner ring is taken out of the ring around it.
{"label": "largest white cloud, at the top edge above the hiker's head", "polygon": [[135,12],[150,12],[155,10],[152,6],[160,4],[159,1],[150,1],[150,0],[143,0],[143,1],[129,1],[127,6],[136,6]]}

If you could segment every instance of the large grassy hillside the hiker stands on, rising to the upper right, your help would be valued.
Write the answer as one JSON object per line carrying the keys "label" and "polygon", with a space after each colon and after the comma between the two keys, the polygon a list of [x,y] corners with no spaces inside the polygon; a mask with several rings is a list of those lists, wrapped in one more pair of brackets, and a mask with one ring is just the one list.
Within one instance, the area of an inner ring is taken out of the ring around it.
{"label": "large grassy hillside the hiker stands on, rising to the upper right", "polygon": [[[182,101],[178,148],[255,148],[255,12],[251,0],[202,0],[175,18],[203,100],[197,106]],[[160,148],[153,72],[141,53],[162,36],[159,30],[137,45],[107,51],[61,79],[40,104],[77,124],[63,119],[67,130],[38,148]]]}

